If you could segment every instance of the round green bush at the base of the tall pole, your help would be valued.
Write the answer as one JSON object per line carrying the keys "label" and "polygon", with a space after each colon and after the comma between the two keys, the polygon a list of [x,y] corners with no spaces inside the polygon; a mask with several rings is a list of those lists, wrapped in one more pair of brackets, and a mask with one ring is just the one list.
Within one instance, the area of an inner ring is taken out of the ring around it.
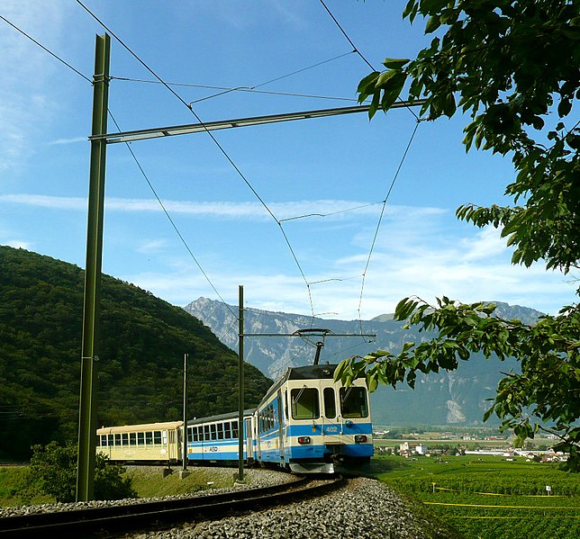
{"label": "round green bush at the base of the tall pole", "polygon": [[[34,445],[30,474],[39,489],[59,502],[72,502],[77,494],[77,446]],[[102,454],[95,460],[95,499],[135,498],[137,493],[130,478],[123,478],[124,469],[111,464]]]}

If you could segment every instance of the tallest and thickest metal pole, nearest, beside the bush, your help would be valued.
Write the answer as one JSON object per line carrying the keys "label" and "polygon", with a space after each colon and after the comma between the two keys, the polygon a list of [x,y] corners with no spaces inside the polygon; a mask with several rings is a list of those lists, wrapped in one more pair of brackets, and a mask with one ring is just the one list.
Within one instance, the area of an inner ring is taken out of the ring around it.
{"label": "tallest and thickest metal pole, nearest, beside the bush", "polygon": [[[93,135],[107,130],[111,38],[96,36],[93,77]],[[103,254],[104,164],[106,141],[91,139],[91,163],[86,228],[85,301],[78,410],[77,501],[94,499],[96,447],[96,373],[99,354],[101,262]]]}

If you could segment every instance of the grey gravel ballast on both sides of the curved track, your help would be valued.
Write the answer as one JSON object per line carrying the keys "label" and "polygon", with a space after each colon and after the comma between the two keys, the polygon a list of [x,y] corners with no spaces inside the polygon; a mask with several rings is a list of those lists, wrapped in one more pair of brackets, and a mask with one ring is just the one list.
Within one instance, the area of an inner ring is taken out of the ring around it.
{"label": "grey gravel ballast on both sides of the curved track", "polygon": [[[231,468],[213,469],[215,474],[231,477]],[[267,487],[292,480],[285,473],[248,470],[247,484],[231,489],[204,490],[194,495],[213,494],[228,490]],[[191,495],[190,495],[191,496]],[[168,498],[183,498],[168,497]],[[72,504],[46,504],[22,508],[0,508],[0,517],[26,513],[61,511],[155,501],[159,499],[125,499]],[[367,478],[349,480],[346,487],[316,499],[307,499],[280,508],[267,508],[249,515],[226,517],[213,522],[192,522],[170,530],[126,535],[132,539],[203,538],[249,539],[282,538],[447,538],[446,530],[433,529],[430,521],[412,511],[410,503],[379,481]]]}

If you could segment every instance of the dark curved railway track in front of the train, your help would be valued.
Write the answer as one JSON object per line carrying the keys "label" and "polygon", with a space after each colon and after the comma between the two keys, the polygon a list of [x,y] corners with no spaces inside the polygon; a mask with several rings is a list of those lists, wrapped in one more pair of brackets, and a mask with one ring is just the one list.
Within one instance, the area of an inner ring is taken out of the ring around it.
{"label": "dark curved railway track in front of the train", "polygon": [[185,522],[217,520],[252,509],[284,505],[297,499],[322,496],[345,484],[300,478],[264,489],[240,490],[187,499],[170,499],[127,506],[76,509],[0,518],[0,538],[50,537],[98,538],[127,534],[145,528],[160,530]]}

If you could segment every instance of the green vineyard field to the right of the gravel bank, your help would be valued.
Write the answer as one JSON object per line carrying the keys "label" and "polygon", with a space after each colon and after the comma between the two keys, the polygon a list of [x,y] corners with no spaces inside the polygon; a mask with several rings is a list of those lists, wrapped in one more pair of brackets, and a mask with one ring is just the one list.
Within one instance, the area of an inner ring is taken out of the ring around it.
{"label": "green vineyard field to the right of the gravel bank", "polygon": [[[468,537],[580,537],[580,476],[494,456],[378,456],[373,474]],[[546,486],[550,487],[550,495]]]}

